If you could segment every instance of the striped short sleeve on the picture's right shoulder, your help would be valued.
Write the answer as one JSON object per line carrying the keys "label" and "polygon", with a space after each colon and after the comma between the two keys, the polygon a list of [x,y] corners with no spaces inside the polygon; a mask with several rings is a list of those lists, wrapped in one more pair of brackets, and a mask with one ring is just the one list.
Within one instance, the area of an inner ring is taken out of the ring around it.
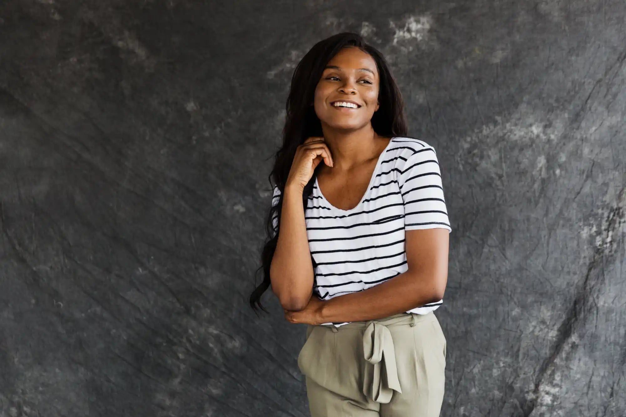
{"label": "striped short sleeve on the picture's right shoulder", "polygon": [[433,147],[426,145],[407,157],[398,185],[404,201],[404,230],[441,227],[452,232]]}

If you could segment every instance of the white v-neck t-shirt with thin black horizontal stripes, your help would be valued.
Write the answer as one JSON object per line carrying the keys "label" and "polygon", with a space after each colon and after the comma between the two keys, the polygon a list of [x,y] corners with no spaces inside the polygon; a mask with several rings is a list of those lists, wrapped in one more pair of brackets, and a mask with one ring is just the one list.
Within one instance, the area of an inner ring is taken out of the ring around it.
{"label": "white v-neck t-shirt with thin black horizontal stripes", "polygon": [[[274,187],[272,204],[279,194]],[[362,291],[406,272],[405,230],[452,231],[436,152],[423,140],[407,137],[391,138],[356,207],[342,210],[331,205],[316,178],[304,216],[310,254],[317,263],[313,291],[322,300]],[[443,299],[407,312],[426,314],[442,303]]]}

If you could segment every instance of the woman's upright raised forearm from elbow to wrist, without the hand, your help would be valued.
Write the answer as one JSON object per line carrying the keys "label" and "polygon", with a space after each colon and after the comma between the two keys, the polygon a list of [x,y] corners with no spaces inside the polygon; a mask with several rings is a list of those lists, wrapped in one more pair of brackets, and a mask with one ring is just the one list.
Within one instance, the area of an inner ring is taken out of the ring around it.
{"label": "woman's upright raised forearm from elbow to wrist, without the hand", "polygon": [[286,309],[306,306],[313,287],[302,190],[285,187],[280,232],[270,265],[272,291]]}

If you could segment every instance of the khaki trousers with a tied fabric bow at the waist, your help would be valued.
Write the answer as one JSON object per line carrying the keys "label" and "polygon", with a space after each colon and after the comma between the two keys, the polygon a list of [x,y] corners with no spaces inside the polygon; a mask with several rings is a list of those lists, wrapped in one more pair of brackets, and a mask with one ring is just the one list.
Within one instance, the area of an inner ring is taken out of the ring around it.
{"label": "khaki trousers with a tied fabric bow at the waist", "polygon": [[433,312],[340,327],[307,324],[298,355],[311,417],[435,417],[446,338]]}

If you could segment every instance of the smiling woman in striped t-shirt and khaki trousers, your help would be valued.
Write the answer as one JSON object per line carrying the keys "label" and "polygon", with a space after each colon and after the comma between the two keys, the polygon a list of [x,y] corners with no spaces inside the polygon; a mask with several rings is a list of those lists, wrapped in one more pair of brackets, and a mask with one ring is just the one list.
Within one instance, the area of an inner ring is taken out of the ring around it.
{"label": "smiling woman in striped t-shirt and khaki trousers", "polygon": [[[434,148],[407,136],[381,53],[358,34],[295,68],[274,169],[264,281],[293,323],[319,416],[438,416],[451,227]],[[321,163],[321,162],[324,163]],[[265,309],[264,309],[265,310]]]}

